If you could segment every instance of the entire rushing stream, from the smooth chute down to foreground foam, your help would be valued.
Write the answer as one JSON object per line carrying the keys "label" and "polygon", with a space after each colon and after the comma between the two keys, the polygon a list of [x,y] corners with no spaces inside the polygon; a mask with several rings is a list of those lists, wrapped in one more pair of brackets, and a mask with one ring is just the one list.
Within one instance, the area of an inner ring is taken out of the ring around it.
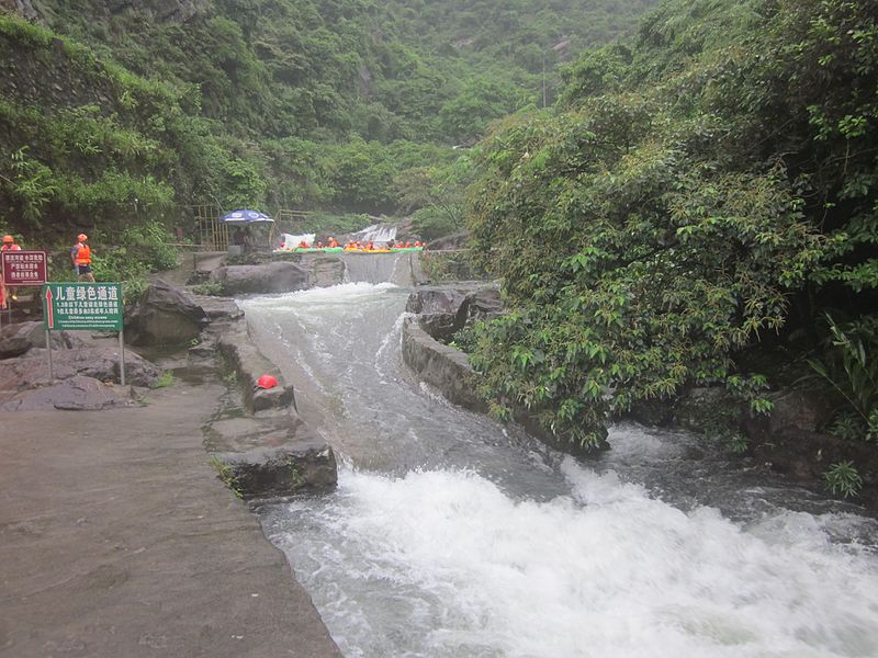
{"label": "entire rushing stream, from the smooth chute down to foreground foam", "polygon": [[455,408],[402,364],[407,294],[243,303],[341,458],[259,513],[346,656],[878,656],[873,520],[685,433],[577,462]]}

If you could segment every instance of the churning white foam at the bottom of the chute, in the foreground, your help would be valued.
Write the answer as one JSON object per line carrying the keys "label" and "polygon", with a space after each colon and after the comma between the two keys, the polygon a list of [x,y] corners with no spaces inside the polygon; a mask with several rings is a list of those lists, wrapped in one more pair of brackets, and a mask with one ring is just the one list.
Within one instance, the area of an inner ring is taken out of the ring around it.
{"label": "churning white foam at the bottom of the chute, in the foreground", "polygon": [[300,576],[351,656],[878,656],[875,556],[826,520],[742,529],[562,470],[573,495],[549,502],[466,472],[342,472],[331,504],[290,508],[320,532],[280,543],[294,565],[309,546]]}

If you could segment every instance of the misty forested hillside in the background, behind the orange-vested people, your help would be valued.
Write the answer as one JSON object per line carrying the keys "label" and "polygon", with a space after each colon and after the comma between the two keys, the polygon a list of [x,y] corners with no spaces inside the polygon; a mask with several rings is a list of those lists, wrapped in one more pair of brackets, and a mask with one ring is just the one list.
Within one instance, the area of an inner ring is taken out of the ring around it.
{"label": "misty forested hillside in the background, behind the orange-vested people", "polygon": [[444,208],[423,215],[430,237],[462,218],[432,203],[465,182],[452,147],[551,102],[558,65],[650,2],[34,4],[0,14],[9,228],[177,223],[190,204]]}

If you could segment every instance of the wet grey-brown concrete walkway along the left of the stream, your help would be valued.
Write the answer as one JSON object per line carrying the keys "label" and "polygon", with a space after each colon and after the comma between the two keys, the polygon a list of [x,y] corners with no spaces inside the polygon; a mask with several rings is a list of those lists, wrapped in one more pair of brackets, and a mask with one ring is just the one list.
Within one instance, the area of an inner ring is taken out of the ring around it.
{"label": "wet grey-brown concrete walkway along the left of the stream", "polygon": [[0,656],[340,656],[209,463],[221,394],[0,413]]}

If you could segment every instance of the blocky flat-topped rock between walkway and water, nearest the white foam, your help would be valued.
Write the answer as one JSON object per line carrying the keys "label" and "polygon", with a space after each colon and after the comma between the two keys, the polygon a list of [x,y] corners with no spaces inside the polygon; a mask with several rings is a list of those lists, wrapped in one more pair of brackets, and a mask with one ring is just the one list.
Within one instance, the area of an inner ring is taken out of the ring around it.
{"label": "blocky flat-topped rock between walkway and water, nearest the white foam", "polygon": [[214,421],[205,446],[244,498],[325,491],[338,480],[331,447],[294,413]]}

